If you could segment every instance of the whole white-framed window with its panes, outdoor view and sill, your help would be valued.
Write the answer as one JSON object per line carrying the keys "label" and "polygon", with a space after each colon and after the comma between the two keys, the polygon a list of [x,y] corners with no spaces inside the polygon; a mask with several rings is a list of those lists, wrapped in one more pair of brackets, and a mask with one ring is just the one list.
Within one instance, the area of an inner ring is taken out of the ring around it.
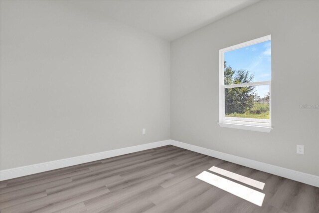
{"label": "whole white-framed window with its panes, outdoor view and sill", "polygon": [[271,130],[271,35],[219,50],[219,125]]}

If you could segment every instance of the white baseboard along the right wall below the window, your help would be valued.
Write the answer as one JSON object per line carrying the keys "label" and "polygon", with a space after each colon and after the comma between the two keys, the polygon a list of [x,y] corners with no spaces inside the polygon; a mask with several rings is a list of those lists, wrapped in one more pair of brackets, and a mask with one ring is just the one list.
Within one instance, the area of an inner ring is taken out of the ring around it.
{"label": "white baseboard along the right wall below the window", "polygon": [[267,172],[273,175],[278,175],[280,177],[288,178],[294,181],[299,181],[301,183],[309,184],[315,187],[319,187],[319,176],[298,172],[295,170],[286,169],[283,167],[278,167],[254,160],[250,160],[247,158],[242,158],[218,151],[214,151],[211,149],[206,149],[199,146],[194,146],[191,144],[182,143],[179,141],[170,140],[170,144],[176,147],[180,147],[183,149],[187,149],[193,152],[201,153],[204,155],[208,155],[214,158],[219,158],[221,160],[229,161],[235,164],[239,164],[245,167],[253,168],[256,170],[260,170],[263,172]]}

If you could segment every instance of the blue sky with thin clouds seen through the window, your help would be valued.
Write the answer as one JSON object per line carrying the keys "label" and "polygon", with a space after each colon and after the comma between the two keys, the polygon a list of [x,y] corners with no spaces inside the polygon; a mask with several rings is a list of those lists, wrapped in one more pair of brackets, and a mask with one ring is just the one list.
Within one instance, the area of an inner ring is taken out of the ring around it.
{"label": "blue sky with thin clouds seen through the window", "polygon": [[[225,52],[224,60],[233,70],[246,69],[254,74],[252,82],[271,80],[271,41]],[[256,92],[264,97],[269,86],[256,86]]]}

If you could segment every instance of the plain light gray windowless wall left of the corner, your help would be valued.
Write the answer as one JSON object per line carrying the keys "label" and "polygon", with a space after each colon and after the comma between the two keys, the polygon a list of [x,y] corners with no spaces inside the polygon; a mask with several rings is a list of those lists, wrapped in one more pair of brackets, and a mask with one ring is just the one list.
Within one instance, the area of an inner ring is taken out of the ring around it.
{"label": "plain light gray windowless wall left of the corner", "polygon": [[63,1],[0,7],[1,170],[170,138],[169,42]]}

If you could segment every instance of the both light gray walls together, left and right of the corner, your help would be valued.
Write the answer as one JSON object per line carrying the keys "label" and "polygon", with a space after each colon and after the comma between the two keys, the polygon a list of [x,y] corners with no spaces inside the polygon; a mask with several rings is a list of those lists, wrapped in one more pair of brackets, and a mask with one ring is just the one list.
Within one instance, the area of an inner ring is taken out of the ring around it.
{"label": "both light gray walls together, left and right of the corner", "polygon": [[[171,138],[319,175],[319,109],[300,108],[319,104],[318,1],[258,2],[171,51],[63,1],[0,7],[1,170]],[[268,34],[274,129],[219,127],[218,50]]]}

